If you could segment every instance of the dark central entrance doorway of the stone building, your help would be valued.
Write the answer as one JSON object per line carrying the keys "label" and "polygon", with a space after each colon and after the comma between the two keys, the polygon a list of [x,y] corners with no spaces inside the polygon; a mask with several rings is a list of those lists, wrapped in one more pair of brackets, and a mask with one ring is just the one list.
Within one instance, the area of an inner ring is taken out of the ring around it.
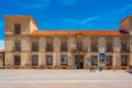
{"label": "dark central entrance doorway of the stone building", "polygon": [[75,56],[75,66],[77,69],[84,68],[84,55],[76,55]]}

